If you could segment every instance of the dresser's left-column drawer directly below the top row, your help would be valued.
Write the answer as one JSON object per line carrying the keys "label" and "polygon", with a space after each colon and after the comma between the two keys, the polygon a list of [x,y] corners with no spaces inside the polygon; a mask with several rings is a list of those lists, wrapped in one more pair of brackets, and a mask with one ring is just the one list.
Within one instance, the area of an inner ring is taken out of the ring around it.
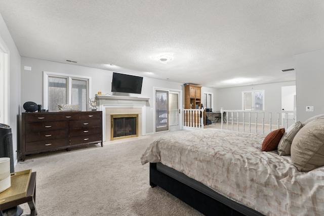
{"label": "dresser's left-column drawer directly below the top row", "polygon": [[54,131],[68,129],[67,121],[33,122],[25,124],[25,132]]}

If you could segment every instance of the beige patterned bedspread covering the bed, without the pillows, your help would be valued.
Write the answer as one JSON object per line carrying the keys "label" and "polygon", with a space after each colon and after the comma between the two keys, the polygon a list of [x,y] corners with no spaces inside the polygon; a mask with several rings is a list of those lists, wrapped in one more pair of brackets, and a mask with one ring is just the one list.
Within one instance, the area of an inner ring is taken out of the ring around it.
{"label": "beige patterned bedspread covering the bed, without the pillows", "polygon": [[161,162],[265,215],[324,215],[324,167],[300,172],[262,152],[264,135],[200,129],[155,140],[142,164]]}

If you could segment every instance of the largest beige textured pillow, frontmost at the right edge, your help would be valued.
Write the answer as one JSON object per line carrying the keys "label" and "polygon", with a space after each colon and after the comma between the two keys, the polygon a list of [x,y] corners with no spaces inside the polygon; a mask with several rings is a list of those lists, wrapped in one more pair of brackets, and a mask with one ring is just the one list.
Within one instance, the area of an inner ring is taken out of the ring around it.
{"label": "largest beige textured pillow, frontmost at the right edge", "polygon": [[299,171],[310,171],[324,165],[324,119],[315,119],[295,136],[291,158]]}

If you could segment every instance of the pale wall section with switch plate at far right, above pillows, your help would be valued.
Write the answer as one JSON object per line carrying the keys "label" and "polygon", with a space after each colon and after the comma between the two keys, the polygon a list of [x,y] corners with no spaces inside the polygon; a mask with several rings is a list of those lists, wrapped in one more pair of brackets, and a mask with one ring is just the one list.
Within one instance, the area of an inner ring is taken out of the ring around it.
{"label": "pale wall section with switch plate at far right, above pillows", "polygon": [[[324,50],[296,55],[297,120],[324,114]],[[313,112],[306,112],[313,106]]]}

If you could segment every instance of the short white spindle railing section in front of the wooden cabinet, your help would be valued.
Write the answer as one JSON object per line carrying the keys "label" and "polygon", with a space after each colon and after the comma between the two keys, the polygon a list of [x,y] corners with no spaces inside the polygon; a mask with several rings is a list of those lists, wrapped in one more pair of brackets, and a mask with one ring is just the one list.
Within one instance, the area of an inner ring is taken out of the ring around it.
{"label": "short white spindle railing section in front of the wooden cabinet", "polygon": [[201,129],[204,128],[202,118],[204,109],[183,109],[183,127],[184,129]]}

